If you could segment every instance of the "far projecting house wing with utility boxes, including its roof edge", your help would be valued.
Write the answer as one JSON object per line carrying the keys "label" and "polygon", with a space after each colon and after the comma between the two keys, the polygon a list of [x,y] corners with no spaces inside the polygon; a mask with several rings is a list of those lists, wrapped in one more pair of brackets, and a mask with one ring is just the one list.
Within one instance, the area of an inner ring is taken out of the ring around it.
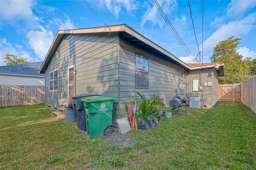
{"label": "far projecting house wing with utility boxes, including its roof edge", "polygon": [[[187,70],[187,96],[202,97],[203,108],[211,108],[219,101],[218,77],[224,76],[223,63],[188,64],[193,70]],[[193,80],[197,80],[198,88],[193,90]]]}

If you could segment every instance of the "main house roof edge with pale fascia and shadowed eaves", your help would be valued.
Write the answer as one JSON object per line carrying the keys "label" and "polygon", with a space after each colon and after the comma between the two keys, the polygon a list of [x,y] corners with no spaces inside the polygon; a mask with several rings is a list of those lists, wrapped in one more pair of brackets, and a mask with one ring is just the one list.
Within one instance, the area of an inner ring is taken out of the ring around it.
{"label": "main house roof edge with pale fascia and shadowed eaves", "polygon": [[[141,48],[147,49],[150,53],[157,54],[157,56],[169,60],[174,64],[177,64],[185,69],[191,69],[189,65],[182,62],[179,58],[175,57],[173,54],[162,48],[161,46],[155,44],[153,41],[149,40],[148,38],[142,36],[139,32],[133,30],[126,24],[119,24],[119,25],[109,25],[110,32],[118,32],[118,36],[124,38],[127,41],[131,41],[132,44],[137,45]],[[71,30],[59,30],[54,37],[52,45],[46,54],[44,62],[39,69],[40,73],[44,73],[47,64],[50,62],[51,57],[58,47],[61,39],[65,35],[70,34],[82,34],[82,33],[109,33],[109,29],[107,27],[94,27],[94,28],[84,28],[84,29],[71,29]]]}

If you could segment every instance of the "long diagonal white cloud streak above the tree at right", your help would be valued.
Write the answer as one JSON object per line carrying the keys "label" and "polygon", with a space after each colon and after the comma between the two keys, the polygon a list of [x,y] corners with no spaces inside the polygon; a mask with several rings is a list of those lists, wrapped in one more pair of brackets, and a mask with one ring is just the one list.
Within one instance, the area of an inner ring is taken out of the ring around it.
{"label": "long diagonal white cloud streak above the tree at right", "polygon": [[252,30],[256,21],[256,13],[249,14],[246,18],[237,21],[231,21],[212,33],[212,35],[204,41],[204,50],[212,50],[213,47],[221,40],[225,40],[230,36],[238,36],[248,33]]}

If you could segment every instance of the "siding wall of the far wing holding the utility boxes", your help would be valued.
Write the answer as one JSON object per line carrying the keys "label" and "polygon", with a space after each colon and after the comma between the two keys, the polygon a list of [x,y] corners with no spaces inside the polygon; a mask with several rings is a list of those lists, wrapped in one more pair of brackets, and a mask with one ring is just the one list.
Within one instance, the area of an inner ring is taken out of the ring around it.
{"label": "siding wall of the far wing holding the utility boxes", "polygon": [[[200,83],[200,73],[201,83]],[[215,69],[199,69],[194,71],[187,71],[187,96],[203,97],[203,106],[209,108],[215,105],[218,101],[218,76]],[[202,86],[203,90],[193,91],[193,80],[198,80],[198,86]],[[204,83],[212,82],[212,86],[204,86]]]}

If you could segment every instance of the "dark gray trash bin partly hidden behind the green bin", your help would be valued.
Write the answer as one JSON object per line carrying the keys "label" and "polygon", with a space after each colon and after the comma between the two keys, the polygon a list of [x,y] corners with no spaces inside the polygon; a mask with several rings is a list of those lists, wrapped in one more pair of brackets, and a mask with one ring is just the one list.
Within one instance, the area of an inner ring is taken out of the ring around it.
{"label": "dark gray trash bin partly hidden behind the green bin", "polygon": [[82,131],[86,130],[86,117],[85,117],[84,103],[81,99],[83,97],[89,97],[89,96],[101,96],[101,95],[79,94],[79,95],[72,96],[74,116],[76,118],[77,128]]}

